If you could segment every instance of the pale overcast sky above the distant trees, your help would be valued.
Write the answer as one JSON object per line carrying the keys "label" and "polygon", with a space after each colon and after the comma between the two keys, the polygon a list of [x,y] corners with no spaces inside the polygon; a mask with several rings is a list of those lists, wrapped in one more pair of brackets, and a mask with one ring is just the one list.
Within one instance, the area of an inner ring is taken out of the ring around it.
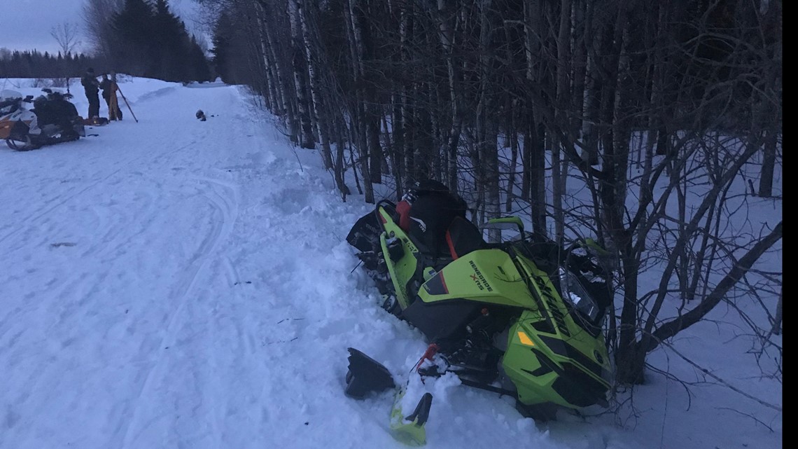
{"label": "pale overcast sky above the distant trees", "polygon": [[[81,31],[80,50],[89,49],[84,35],[85,0],[0,0],[0,48],[39,50],[57,53],[58,45],[50,36],[53,26],[71,22]],[[195,25],[197,6],[192,0],[169,0],[172,12],[183,19],[189,32],[199,34]]]}

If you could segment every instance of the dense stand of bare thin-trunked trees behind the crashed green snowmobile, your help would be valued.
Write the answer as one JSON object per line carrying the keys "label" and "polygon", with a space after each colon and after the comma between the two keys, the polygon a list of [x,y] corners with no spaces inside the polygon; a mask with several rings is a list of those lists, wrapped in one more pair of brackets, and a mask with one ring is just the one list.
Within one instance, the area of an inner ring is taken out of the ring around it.
{"label": "dense stand of bare thin-trunked trees behind the crashed green snowmobile", "polygon": [[219,74],[319,150],[345,201],[353,183],[374,202],[373,185],[398,198],[432,177],[476,221],[520,210],[554,240],[597,236],[618,272],[618,382],[642,382],[647,354],[752,297],[772,327],[747,320],[750,333],[780,376],[781,272],[757,261],[780,250],[781,223],[725,231],[733,185],[778,193],[781,2],[202,2]]}

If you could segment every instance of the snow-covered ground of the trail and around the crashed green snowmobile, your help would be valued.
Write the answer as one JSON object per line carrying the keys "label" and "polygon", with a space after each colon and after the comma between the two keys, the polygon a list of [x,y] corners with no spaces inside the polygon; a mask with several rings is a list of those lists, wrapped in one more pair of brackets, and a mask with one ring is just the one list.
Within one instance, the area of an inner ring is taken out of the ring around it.
{"label": "snow-covered ground of the trail and around the crashed green snowmobile", "polygon": [[[38,93],[28,81],[3,88]],[[318,154],[292,149],[236,87],[121,87],[138,123],[123,102],[124,121],[96,136],[0,148],[0,448],[403,447],[387,431],[389,393],[343,394],[346,348],[398,379],[426,348],[353,272],[344,236],[369,206],[340,201]],[[730,332],[707,324],[676,343],[780,405],[780,383],[757,377]],[[651,360],[697,377],[664,351]],[[634,418],[555,423],[430,382],[428,447],[782,447],[780,412],[649,377]]]}

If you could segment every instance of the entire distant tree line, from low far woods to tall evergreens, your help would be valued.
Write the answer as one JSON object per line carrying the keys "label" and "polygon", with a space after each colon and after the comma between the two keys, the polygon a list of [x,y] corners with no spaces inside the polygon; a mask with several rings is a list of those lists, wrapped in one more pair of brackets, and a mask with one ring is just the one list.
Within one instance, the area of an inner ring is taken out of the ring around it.
{"label": "entire distant tree line, from low far woods to tall evergreens", "polygon": [[54,27],[57,54],[0,48],[0,77],[81,77],[119,73],[164,81],[209,81],[215,77],[199,40],[169,8],[168,0],[86,0],[83,8],[89,54],[75,51],[71,23]]}

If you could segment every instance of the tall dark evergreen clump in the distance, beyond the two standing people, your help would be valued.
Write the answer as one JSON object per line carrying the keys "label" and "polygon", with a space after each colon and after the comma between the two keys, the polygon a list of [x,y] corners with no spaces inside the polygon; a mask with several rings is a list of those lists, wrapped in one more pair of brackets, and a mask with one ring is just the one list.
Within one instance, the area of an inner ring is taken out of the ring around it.
{"label": "tall dark evergreen clump in the distance, beyond the two standing people", "polygon": [[211,67],[168,0],[86,0],[94,54],[117,72],[165,81],[208,81]]}

